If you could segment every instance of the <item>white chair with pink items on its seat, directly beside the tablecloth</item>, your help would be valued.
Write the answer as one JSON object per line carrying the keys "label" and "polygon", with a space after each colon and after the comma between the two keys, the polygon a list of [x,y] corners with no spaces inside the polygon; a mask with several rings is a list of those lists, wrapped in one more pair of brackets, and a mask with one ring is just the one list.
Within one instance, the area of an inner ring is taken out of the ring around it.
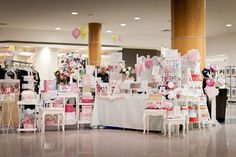
{"label": "white chair with pink items on its seat, directly beside the tablecloth", "polygon": [[[148,102],[159,102],[162,106],[162,95],[161,94],[150,94]],[[149,117],[150,116],[166,116],[167,110],[156,110],[156,109],[145,109],[143,112],[143,134],[149,133]]]}

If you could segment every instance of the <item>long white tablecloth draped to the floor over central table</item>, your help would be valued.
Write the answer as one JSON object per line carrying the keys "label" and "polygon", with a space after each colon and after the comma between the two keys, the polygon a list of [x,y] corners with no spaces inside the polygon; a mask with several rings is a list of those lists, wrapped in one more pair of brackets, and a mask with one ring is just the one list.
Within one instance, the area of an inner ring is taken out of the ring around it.
{"label": "long white tablecloth draped to the floor over central table", "polygon": [[[143,129],[146,95],[97,96],[91,126]],[[150,117],[150,130],[162,129],[162,117]]]}

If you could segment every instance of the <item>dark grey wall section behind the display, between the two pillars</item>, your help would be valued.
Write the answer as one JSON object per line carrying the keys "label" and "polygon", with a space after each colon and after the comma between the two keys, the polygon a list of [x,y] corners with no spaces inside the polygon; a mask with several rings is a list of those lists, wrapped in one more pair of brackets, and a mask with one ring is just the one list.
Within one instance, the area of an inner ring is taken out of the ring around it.
{"label": "dark grey wall section behind the display, between the two pillars", "polygon": [[160,56],[161,52],[155,49],[133,49],[133,48],[123,48],[122,50],[123,60],[126,66],[134,67],[136,64],[136,55],[139,56]]}

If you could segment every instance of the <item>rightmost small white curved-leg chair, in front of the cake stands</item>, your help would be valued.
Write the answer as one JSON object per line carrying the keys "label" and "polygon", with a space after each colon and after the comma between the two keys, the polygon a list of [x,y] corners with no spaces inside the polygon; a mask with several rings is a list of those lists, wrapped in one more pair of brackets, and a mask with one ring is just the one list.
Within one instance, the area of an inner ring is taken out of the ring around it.
{"label": "rightmost small white curved-leg chair, in front of the cake stands", "polygon": [[177,127],[177,134],[178,135],[179,135],[180,125],[182,125],[183,126],[183,137],[185,137],[186,118],[185,118],[185,115],[183,115],[183,113],[181,113],[180,106],[174,106],[174,110],[168,112],[168,115],[164,118],[164,122],[163,122],[164,135],[166,135],[167,126],[168,126],[169,138],[171,138],[171,132],[172,132],[173,125]]}

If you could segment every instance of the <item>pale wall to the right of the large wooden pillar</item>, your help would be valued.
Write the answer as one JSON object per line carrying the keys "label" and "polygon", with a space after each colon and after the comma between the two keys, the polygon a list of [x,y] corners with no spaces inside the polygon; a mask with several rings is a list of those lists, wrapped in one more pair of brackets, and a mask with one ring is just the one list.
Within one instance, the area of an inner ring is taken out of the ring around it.
{"label": "pale wall to the right of the large wooden pillar", "polygon": [[207,56],[227,55],[228,65],[236,65],[236,33],[207,38]]}

